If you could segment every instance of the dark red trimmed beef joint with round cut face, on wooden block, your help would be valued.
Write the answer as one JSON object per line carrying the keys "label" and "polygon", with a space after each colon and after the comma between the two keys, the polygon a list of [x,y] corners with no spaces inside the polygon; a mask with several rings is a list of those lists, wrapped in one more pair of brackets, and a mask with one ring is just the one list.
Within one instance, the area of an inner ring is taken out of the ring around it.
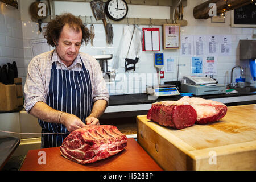
{"label": "dark red trimmed beef joint with round cut face, on wooden block", "polygon": [[155,102],[147,113],[147,119],[175,129],[194,125],[196,117],[196,110],[185,101]]}

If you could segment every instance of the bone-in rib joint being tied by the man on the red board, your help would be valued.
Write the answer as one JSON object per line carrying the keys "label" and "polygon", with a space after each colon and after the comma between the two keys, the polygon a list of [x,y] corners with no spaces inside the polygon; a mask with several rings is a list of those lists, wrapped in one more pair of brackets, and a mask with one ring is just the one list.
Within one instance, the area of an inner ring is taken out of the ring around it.
{"label": "bone-in rib joint being tied by the man on the red board", "polygon": [[60,152],[65,158],[88,164],[121,152],[127,144],[126,135],[111,125],[88,125],[72,131],[64,139]]}

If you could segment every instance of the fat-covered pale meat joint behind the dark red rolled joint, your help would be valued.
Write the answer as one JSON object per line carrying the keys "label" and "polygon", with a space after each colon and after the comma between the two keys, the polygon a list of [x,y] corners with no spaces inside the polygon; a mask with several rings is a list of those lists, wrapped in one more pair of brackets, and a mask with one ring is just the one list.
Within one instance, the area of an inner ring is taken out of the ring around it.
{"label": "fat-covered pale meat joint behind the dark red rolled joint", "polygon": [[221,102],[206,100],[199,97],[184,96],[179,101],[188,102],[197,113],[196,123],[206,124],[220,120],[226,115],[228,108]]}

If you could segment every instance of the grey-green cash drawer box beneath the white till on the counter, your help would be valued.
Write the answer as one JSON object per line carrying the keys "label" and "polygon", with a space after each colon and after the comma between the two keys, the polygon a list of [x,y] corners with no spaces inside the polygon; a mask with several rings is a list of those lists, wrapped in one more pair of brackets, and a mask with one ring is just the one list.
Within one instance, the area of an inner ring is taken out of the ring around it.
{"label": "grey-green cash drawer box beneath the white till on the counter", "polygon": [[226,93],[226,86],[217,84],[214,86],[200,86],[192,84],[181,84],[182,92],[192,93],[196,96]]}

